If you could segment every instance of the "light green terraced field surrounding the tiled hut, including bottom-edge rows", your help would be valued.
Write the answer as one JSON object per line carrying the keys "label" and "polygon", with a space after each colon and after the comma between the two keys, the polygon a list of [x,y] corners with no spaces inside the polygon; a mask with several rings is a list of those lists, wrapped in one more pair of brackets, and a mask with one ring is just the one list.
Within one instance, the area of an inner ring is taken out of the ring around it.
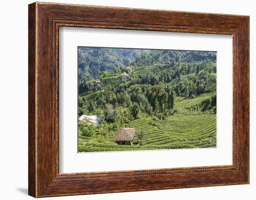
{"label": "light green terraced field surrounding the tiled hut, including bottom-edge rows", "polygon": [[[114,135],[104,138],[80,138],[79,151],[119,151],[169,148],[215,148],[216,116],[183,115],[170,116],[167,120],[153,121],[150,118],[134,120],[127,127],[135,128],[135,145],[118,145]],[[136,145],[137,134],[143,129],[143,146]]]}

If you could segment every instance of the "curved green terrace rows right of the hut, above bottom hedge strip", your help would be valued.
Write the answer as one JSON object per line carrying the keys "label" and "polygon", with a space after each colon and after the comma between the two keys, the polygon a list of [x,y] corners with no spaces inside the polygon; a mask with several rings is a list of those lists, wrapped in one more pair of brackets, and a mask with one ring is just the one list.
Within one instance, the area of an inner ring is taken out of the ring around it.
{"label": "curved green terrace rows right of the hut, above bottom hedge strip", "polygon": [[[128,124],[145,132],[145,143],[150,145],[187,145],[216,147],[216,116],[175,115],[167,120],[135,120]],[[135,140],[137,139],[135,135]]]}

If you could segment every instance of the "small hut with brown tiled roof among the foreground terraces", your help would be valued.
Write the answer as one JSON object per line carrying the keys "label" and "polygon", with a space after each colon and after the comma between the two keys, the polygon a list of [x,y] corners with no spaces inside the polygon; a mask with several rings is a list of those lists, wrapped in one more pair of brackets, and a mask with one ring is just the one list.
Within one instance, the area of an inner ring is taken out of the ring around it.
{"label": "small hut with brown tiled roof among the foreground terraces", "polygon": [[115,142],[117,144],[133,145],[134,128],[119,128],[115,134]]}

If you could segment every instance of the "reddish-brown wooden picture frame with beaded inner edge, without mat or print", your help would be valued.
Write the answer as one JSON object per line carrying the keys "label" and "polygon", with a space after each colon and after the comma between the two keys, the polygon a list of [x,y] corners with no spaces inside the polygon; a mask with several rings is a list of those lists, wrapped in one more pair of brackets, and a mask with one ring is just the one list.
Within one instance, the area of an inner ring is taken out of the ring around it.
{"label": "reddish-brown wooden picture frame with beaded inner edge, without mat or print", "polygon": [[[249,16],[33,3],[28,9],[28,194],[99,194],[249,183]],[[233,36],[233,164],[59,174],[60,26]]]}

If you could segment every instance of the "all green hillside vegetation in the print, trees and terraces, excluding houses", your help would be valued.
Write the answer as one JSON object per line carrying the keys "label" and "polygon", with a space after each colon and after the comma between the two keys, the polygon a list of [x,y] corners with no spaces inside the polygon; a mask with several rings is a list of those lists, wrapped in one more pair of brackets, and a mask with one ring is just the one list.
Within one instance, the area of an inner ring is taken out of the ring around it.
{"label": "all green hillside vegetation in the print, trees and terraces, excluding houses", "polygon": [[78,64],[78,114],[97,116],[79,122],[80,152],[216,147],[216,52],[79,47]]}

